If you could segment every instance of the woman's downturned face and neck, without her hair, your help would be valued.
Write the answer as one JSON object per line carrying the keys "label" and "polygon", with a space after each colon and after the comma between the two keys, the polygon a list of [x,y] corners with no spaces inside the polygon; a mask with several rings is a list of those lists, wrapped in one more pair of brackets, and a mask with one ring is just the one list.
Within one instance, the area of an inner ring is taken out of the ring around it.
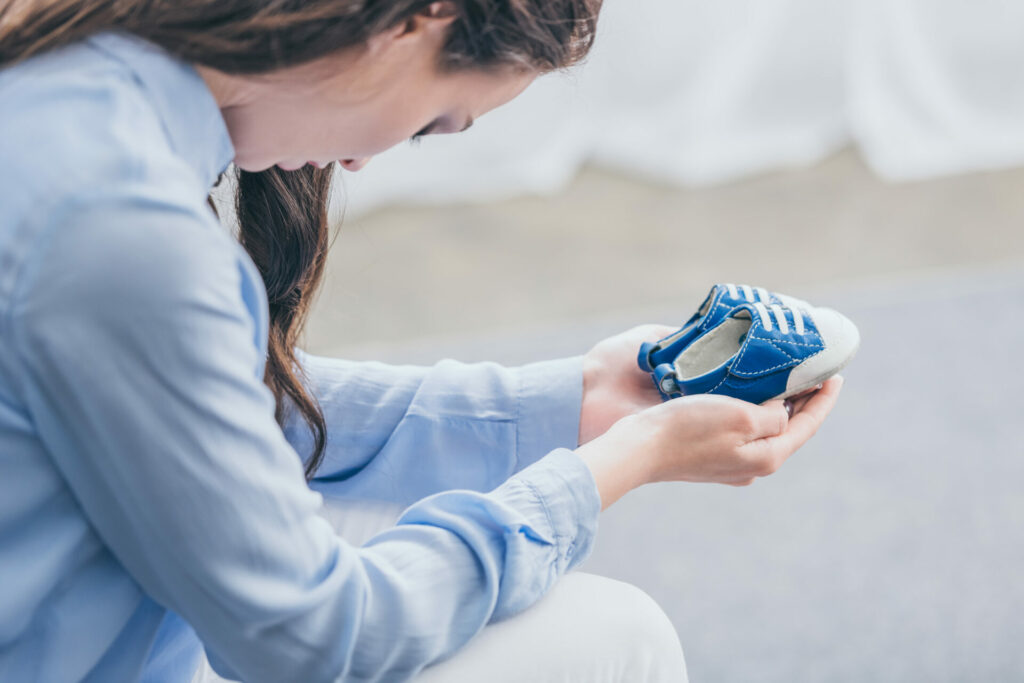
{"label": "woman's downturned face and neck, without her hair", "polygon": [[220,104],[236,165],[295,170],[340,161],[357,171],[414,135],[465,130],[536,78],[511,68],[439,69],[450,18],[428,9],[365,48],[269,75],[198,67]]}

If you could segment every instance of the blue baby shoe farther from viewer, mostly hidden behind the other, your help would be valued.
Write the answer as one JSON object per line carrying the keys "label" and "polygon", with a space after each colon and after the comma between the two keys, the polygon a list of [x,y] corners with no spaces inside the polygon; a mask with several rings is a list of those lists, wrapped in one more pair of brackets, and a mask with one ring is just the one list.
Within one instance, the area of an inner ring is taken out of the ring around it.
{"label": "blue baby shoe farther from viewer, mostly hidden behind the other", "polygon": [[637,365],[645,373],[654,372],[654,368],[657,366],[672,362],[694,339],[724,321],[736,306],[756,302],[761,302],[766,306],[777,304],[790,308],[811,307],[806,301],[769,292],[763,287],[732,284],[715,285],[711,288],[703,303],[697,308],[697,312],[686,321],[682,329],[657,342],[644,342],[640,345]]}

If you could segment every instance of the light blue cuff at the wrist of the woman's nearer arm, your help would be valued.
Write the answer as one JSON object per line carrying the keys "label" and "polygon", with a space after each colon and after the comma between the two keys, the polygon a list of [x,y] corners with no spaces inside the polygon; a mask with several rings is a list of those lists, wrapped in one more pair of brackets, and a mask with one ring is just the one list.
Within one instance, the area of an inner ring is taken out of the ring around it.
{"label": "light blue cuff at the wrist of the woman's nearer arm", "polygon": [[590,468],[574,451],[558,449],[525,468],[492,495],[544,525],[554,540],[557,578],[590,555],[597,536],[601,496]]}

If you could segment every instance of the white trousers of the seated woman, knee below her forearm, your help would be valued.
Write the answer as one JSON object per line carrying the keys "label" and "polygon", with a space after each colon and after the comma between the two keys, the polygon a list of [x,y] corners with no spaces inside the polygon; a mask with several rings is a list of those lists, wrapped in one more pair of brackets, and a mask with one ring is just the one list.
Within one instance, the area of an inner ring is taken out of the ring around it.
{"label": "white trousers of the seated woman, knee below her forearm", "polygon": [[[390,526],[400,508],[333,503],[325,511],[355,545]],[[492,624],[415,683],[686,683],[668,615],[639,588],[572,571],[536,604]],[[194,683],[219,683],[203,660]]]}

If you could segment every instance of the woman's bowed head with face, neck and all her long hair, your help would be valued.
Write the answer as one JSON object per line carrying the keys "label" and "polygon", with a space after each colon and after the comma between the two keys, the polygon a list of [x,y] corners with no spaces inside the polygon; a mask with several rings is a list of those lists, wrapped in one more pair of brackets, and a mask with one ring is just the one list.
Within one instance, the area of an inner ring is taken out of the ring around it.
{"label": "woman's bowed head with face, neck and all her long hair", "polygon": [[[0,67],[101,31],[193,63],[237,152],[240,241],[270,308],[264,381],[323,458],[323,413],[294,347],[324,273],[335,159],[357,170],[456,132],[591,47],[601,0],[0,0]],[[182,106],[187,106],[182,102]],[[286,169],[297,169],[288,171]]]}

